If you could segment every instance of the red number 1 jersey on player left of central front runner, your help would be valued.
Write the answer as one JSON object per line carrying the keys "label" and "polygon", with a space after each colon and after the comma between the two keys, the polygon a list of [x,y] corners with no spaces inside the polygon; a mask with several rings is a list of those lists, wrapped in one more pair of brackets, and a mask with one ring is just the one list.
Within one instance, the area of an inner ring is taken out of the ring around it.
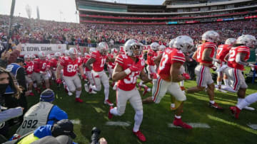
{"label": "red number 1 jersey on player left of central front runner", "polygon": [[95,59],[93,63],[93,70],[95,72],[101,72],[104,70],[104,64],[106,62],[106,55],[101,55],[99,51],[92,52],[91,57]]}

